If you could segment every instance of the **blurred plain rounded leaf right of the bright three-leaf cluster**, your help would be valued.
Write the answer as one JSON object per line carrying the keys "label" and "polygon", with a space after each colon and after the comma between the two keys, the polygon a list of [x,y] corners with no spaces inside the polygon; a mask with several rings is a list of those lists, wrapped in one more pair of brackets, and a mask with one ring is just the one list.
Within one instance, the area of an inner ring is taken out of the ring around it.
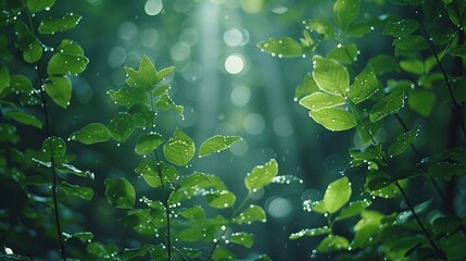
{"label": "blurred plain rounded leaf right of the bright three-leaf cluster", "polygon": [[436,95],[427,89],[410,90],[407,104],[413,111],[419,113],[419,115],[428,117],[436,104]]}

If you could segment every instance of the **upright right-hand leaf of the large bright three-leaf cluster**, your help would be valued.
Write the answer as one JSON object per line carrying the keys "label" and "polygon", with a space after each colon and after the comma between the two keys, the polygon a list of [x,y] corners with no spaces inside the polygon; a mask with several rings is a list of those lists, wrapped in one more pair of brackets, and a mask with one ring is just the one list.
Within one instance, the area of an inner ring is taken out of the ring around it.
{"label": "upright right-hand leaf of the large bright three-leaf cluster", "polygon": [[379,90],[379,82],[370,66],[366,66],[355,78],[350,86],[348,97],[355,104],[369,99]]}

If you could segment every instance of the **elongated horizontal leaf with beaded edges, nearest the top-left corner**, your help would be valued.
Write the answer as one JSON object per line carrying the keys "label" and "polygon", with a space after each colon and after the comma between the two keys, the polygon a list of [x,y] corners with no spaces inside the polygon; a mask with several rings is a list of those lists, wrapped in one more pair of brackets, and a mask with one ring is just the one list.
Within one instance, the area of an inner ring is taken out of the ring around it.
{"label": "elongated horizontal leaf with beaded edges, nearest the top-left corner", "polygon": [[76,27],[81,18],[81,15],[75,13],[67,13],[60,18],[46,18],[40,22],[38,30],[42,35],[70,30]]}

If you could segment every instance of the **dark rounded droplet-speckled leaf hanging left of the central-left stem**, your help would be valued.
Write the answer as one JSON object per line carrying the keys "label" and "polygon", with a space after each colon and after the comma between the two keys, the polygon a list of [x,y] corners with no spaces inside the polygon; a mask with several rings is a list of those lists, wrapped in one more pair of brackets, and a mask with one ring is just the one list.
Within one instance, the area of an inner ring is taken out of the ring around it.
{"label": "dark rounded droplet-speckled leaf hanging left of the central-left stem", "polygon": [[124,177],[105,178],[105,197],[112,207],[131,209],[136,202],[136,190]]}

